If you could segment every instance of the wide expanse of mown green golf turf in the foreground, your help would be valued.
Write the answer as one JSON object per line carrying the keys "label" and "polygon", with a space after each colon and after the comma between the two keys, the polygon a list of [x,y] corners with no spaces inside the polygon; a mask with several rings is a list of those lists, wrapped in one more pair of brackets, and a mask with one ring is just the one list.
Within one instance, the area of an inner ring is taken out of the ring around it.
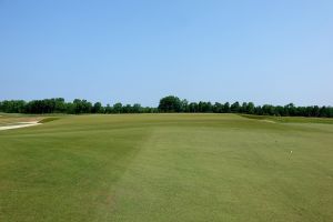
{"label": "wide expanse of mown green golf turf in the foreground", "polygon": [[333,124],[69,115],[0,131],[0,221],[331,222],[332,209]]}

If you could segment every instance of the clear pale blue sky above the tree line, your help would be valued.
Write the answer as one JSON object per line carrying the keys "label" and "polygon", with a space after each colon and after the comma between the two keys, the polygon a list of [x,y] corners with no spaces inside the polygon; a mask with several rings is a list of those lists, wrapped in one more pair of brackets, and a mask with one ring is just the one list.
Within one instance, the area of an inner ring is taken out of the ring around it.
{"label": "clear pale blue sky above the tree line", "polygon": [[333,1],[0,0],[0,100],[333,105]]}

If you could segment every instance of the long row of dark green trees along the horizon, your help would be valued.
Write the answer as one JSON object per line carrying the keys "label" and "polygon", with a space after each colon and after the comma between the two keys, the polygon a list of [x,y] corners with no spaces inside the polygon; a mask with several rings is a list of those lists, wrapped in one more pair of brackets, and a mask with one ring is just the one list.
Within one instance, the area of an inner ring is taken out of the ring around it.
{"label": "long row of dark green trees along the horizon", "polygon": [[44,100],[4,100],[0,101],[0,112],[7,113],[245,113],[256,115],[276,115],[276,117],[320,117],[333,118],[332,107],[296,107],[293,103],[286,105],[254,105],[253,102],[234,103],[211,103],[205,101],[189,102],[178,97],[169,95],[160,100],[158,108],[141,107],[141,104],[125,104],[118,102],[113,105],[103,107],[101,102],[91,103],[87,100],[75,99],[72,102],[65,102],[63,98]]}

